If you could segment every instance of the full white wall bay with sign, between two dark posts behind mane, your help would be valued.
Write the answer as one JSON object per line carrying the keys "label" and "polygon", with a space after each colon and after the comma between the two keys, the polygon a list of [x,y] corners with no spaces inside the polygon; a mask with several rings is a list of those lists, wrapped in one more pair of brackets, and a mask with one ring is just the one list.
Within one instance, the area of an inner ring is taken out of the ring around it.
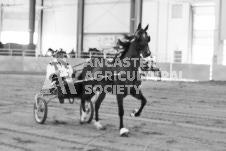
{"label": "full white wall bay with sign, between two dark posts behind mane", "polygon": [[85,1],[84,51],[113,47],[129,30],[130,0]]}

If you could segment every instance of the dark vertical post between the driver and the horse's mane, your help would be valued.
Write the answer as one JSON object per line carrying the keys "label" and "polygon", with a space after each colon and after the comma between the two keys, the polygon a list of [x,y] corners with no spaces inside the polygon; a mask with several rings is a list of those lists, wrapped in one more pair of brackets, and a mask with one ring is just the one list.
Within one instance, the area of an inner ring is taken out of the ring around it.
{"label": "dark vertical post between the driver and the horse's mane", "polygon": [[77,17],[77,45],[76,51],[81,54],[83,51],[83,36],[84,36],[84,12],[85,0],[78,0],[78,17]]}

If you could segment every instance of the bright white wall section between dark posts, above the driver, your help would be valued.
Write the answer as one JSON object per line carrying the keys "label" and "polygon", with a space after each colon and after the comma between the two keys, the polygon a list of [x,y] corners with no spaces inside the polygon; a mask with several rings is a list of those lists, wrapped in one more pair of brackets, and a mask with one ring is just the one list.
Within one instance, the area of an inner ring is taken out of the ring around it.
{"label": "bright white wall section between dark posts, above the driver", "polygon": [[48,48],[70,52],[76,48],[77,0],[44,2],[42,53]]}

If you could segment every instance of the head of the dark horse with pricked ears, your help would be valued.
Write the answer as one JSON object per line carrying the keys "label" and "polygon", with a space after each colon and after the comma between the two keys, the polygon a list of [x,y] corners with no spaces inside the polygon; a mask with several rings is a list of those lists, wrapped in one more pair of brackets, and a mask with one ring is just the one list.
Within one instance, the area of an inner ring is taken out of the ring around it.
{"label": "head of the dark horse with pricked ears", "polygon": [[136,41],[138,43],[139,53],[142,57],[146,58],[151,55],[148,43],[151,41],[150,36],[147,33],[148,25],[142,29],[141,24],[138,25],[137,31],[133,35],[131,42]]}

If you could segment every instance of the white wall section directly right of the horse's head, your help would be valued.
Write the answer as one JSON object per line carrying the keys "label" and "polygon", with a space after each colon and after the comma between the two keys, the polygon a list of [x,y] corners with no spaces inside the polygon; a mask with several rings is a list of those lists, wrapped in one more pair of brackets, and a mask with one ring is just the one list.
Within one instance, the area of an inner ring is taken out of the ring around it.
{"label": "white wall section directly right of the horse's head", "polygon": [[182,18],[172,18],[172,6],[167,1],[143,1],[143,26],[150,25],[150,49],[158,62],[171,62],[175,50],[182,51],[182,62],[189,58],[190,5],[182,3]]}

